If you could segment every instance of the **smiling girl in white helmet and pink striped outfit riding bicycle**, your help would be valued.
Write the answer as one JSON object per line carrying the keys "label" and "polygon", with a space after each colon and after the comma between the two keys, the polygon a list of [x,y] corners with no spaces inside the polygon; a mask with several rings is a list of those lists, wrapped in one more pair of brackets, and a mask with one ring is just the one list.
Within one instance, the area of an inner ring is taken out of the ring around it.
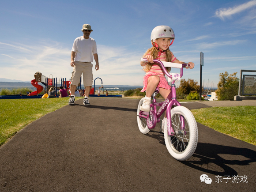
{"label": "smiling girl in white helmet and pink striped outfit riding bicycle", "polygon": [[[151,44],[153,46],[143,55],[143,58],[147,58],[148,62],[140,62],[140,65],[143,66],[143,69],[146,72],[146,75],[143,77],[144,87],[141,90],[141,92],[146,90],[146,97],[140,107],[140,110],[142,111],[150,111],[151,95],[157,87],[159,88],[159,93],[165,99],[171,92],[170,86],[165,78],[165,72],[162,70],[161,66],[154,63],[153,60],[157,59],[184,64],[184,62],[177,60],[169,50],[169,46],[173,44],[174,38],[174,32],[169,26],[156,26],[151,32]],[[188,64],[191,69],[195,66],[192,62],[188,62]],[[166,70],[170,72],[170,68],[166,68]]]}

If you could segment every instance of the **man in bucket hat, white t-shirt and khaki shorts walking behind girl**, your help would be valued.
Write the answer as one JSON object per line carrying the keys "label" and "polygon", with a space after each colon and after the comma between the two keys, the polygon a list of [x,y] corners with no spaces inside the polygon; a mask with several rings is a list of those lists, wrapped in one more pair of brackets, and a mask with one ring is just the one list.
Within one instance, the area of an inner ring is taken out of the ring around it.
{"label": "man in bucket hat, white t-shirt and khaki shorts walking behind girl", "polygon": [[80,77],[83,73],[83,86],[85,88],[85,97],[83,99],[84,105],[90,105],[90,89],[92,87],[93,75],[91,63],[93,59],[96,62],[95,69],[99,69],[98,53],[96,41],[90,38],[92,32],[89,24],[84,24],[83,36],[76,38],[71,51],[71,67],[73,67],[70,92],[71,97],[69,98],[68,104],[73,105],[75,102],[75,89],[78,86]]}

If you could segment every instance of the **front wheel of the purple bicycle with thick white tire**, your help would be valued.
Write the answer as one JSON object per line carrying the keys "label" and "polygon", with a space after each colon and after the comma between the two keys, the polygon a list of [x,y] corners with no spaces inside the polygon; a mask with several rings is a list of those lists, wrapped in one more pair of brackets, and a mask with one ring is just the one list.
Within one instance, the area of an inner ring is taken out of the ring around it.
{"label": "front wheel of the purple bicycle with thick white tire", "polygon": [[167,150],[173,158],[184,161],[190,158],[197,146],[198,129],[196,120],[184,106],[177,106],[171,110],[172,128],[174,136],[168,136],[167,123],[165,124],[164,137]]}

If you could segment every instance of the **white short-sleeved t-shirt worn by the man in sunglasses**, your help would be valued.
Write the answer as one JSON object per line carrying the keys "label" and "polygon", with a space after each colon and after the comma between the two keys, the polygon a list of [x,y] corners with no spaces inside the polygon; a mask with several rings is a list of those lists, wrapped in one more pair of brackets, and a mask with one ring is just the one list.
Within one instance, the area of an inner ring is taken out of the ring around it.
{"label": "white short-sleeved t-shirt worn by the man in sunglasses", "polygon": [[93,62],[93,54],[97,53],[96,41],[93,38],[85,39],[83,36],[75,39],[72,51],[75,53],[75,61]]}

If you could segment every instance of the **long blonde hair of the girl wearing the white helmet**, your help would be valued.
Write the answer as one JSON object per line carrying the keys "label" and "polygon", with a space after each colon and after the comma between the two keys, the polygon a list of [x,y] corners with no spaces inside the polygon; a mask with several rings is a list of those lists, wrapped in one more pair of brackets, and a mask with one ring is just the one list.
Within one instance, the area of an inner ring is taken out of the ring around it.
{"label": "long blonde hair of the girl wearing the white helmet", "polygon": [[[154,42],[152,42],[154,44]],[[158,58],[158,55],[159,55],[159,50],[156,49],[156,47],[151,47],[150,49],[147,49],[147,52],[143,55],[143,58],[147,55],[147,54],[151,54],[153,56],[154,59],[157,59]],[[166,50],[166,61],[167,62],[171,62],[172,60],[172,53],[169,49]],[[147,63],[146,66],[144,66],[143,70],[145,72],[148,72],[151,67],[153,66],[154,63]],[[168,71],[168,73],[171,71],[171,68],[166,68],[166,70]]]}

